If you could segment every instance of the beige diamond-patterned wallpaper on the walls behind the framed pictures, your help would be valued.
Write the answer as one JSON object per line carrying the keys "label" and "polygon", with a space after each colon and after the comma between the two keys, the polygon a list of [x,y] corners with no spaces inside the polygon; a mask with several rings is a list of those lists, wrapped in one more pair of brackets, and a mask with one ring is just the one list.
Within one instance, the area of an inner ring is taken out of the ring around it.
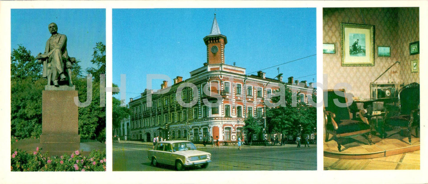
{"label": "beige diamond-patterned wallpaper on the walls behind the framed pictures", "polygon": [[[341,82],[347,82],[352,88],[345,88],[354,96],[369,98],[369,83],[383,73],[395,61],[395,64],[377,82],[419,82],[419,73],[410,73],[410,60],[419,55],[409,55],[409,43],[419,40],[418,8],[362,8],[366,24],[375,25],[375,66],[341,66],[340,23],[364,24],[359,8],[324,8],[323,43],[335,43],[336,54],[323,54],[324,73],[327,74],[328,89]],[[377,57],[377,46],[390,46],[391,57]],[[324,79],[326,80],[326,79]]]}

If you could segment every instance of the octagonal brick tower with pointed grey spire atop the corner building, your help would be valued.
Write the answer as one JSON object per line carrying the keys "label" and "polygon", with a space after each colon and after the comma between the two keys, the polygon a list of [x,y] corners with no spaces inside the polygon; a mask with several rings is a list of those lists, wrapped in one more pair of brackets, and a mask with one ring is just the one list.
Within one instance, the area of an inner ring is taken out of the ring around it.
{"label": "octagonal brick tower with pointed grey spire atop the corner building", "polygon": [[220,33],[215,14],[211,32],[205,36],[204,42],[207,46],[208,64],[224,64],[224,47],[227,44],[227,38]]}

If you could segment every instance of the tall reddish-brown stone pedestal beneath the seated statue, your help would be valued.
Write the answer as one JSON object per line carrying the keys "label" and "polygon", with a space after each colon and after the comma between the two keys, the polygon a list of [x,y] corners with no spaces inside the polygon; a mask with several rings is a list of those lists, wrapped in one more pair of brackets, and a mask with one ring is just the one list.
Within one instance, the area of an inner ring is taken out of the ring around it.
{"label": "tall reddish-brown stone pedestal beneath the seated statue", "polygon": [[[48,88],[47,88],[48,89]],[[74,104],[75,90],[52,88],[42,92],[43,151],[66,152],[80,149],[78,107]]]}

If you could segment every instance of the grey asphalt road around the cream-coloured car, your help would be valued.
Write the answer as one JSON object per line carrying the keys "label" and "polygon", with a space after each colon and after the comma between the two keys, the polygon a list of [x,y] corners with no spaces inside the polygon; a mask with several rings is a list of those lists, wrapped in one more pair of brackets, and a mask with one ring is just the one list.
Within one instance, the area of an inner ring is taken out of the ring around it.
{"label": "grey asphalt road around the cream-coloured car", "polygon": [[[113,143],[113,171],[174,171],[174,166],[151,166],[146,158],[152,146]],[[316,170],[316,147],[258,146],[238,149],[198,148],[211,153],[211,163],[205,169],[192,171],[226,170]]]}

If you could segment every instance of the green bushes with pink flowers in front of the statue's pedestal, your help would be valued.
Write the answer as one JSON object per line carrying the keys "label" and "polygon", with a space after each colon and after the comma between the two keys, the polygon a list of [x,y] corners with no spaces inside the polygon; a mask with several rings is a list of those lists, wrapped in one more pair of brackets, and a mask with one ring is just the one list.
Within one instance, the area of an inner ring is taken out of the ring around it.
{"label": "green bushes with pink flowers in front of the statue's pedestal", "polygon": [[79,151],[71,155],[48,157],[39,147],[35,152],[27,153],[16,149],[11,154],[11,171],[105,171],[106,151],[93,150],[89,156],[82,156]]}

